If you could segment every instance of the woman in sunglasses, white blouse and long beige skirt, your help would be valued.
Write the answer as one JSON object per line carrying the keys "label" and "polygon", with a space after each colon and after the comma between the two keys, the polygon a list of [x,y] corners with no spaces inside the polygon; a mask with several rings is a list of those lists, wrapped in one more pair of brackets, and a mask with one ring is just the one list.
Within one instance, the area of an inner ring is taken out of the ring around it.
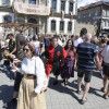
{"label": "woman in sunglasses, white blouse and long beige skirt", "polygon": [[21,69],[11,64],[14,70],[24,74],[20,86],[17,109],[46,109],[45,94],[43,92],[44,63],[40,58],[36,57],[34,45],[26,44],[23,50],[26,57],[22,61]]}

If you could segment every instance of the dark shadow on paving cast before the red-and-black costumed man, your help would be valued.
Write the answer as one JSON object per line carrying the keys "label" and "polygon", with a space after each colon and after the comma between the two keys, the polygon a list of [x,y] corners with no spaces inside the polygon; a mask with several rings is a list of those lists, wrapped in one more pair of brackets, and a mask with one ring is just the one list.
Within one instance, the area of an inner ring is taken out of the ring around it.
{"label": "dark shadow on paving cast before the red-and-black costumed man", "polygon": [[80,101],[78,97],[74,94],[74,89],[71,89],[69,87],[65,87],[65,86],[62,86],[62,81],[59,80],[59,84],[58,85],[53,85],[53,82],[55,82],[55,78],[53,77],[50,77],[50,81],[49,81],[49,88],[51,89],[55,89],[59,93],[63,93],[63,94],[69,94],[71,95],[73,98],[75,98],[77,101]]}

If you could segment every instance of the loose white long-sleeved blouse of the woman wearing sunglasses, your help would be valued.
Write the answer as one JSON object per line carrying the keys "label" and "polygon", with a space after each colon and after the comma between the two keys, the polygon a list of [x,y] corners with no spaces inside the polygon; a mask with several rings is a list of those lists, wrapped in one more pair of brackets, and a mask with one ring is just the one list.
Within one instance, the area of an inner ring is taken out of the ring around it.
{"label": "loose white long-sleeved blouse of the woman wearing sunglasses", "polygon": [[[35,72],[35,61],[36,61],[36,72]],[[35,93],[39,94],[44,87],[45,81],[45,66],[40,58],[33,57],[32,59],[24,58],[22,61],[21,69],[17,69],[21,73],[34,74],[37,76],[37,86]]]}

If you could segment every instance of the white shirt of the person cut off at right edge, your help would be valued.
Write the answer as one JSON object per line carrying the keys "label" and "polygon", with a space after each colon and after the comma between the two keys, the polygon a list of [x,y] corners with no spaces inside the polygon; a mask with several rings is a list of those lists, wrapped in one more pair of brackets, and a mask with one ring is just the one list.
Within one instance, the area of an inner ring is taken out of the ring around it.
{"label": "white shirt of the person cut off at right edge", "polygon": [[104,50],[102,50],[102,52],[101,52],[101,56],[102,56],[102,58],[104,58],[104,61],[105,61],[106,63],[109,63],[109,45],[107,45],[107,46],[104,48]]}

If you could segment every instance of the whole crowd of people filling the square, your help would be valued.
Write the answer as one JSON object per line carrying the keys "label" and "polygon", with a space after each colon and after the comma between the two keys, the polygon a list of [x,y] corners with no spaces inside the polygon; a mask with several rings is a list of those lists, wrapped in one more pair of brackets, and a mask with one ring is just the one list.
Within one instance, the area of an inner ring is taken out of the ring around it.
{"label": "whole crowd of people filling the square", "polygon": [[77,94],[82,94],[82,78],[85,81],[81,105],[87,101],[90,81],[94,71],[99,71],[102,77],[101,92],[104,98],[109,97],[109,39],[86,34],[72,36],[37,35],[27,38],[23,34],[9,34],[0,40],[1,60],[7,74],[13,74],[14,93],[7,107],[13,107],[17,102],[17,109],[46,109],[45,92],[53,73],[58,84],[61,75],[64,86],[69,78],[74,77],[77,71]]}

